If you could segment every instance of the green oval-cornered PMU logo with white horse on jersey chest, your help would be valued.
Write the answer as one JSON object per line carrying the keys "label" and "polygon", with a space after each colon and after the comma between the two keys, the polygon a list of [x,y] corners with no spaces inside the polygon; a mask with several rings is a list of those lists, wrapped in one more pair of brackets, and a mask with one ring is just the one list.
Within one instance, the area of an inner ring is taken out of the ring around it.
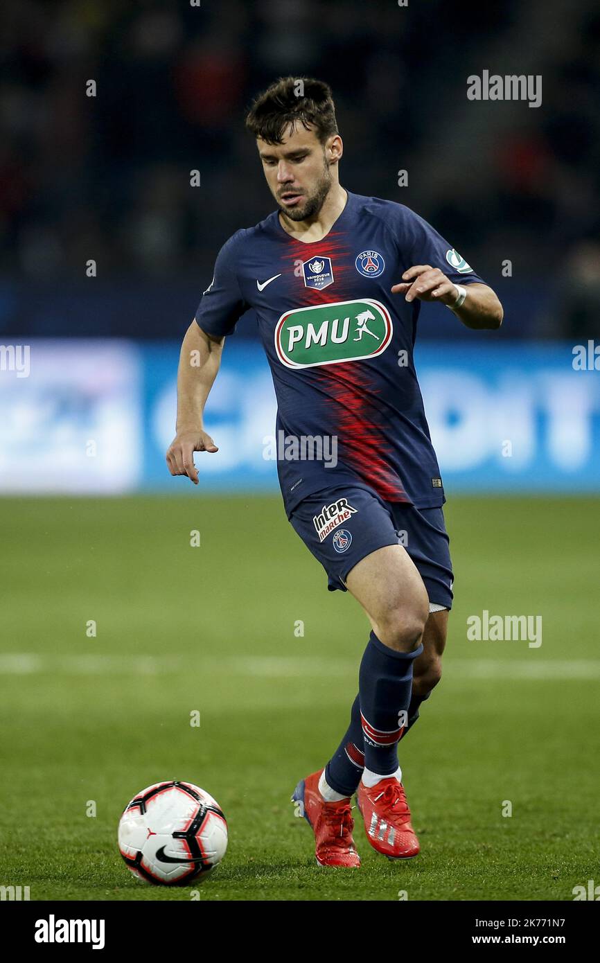
{"label": "green oval-cornered PMU logo with white horse on jersey chest", "polygon": [[274,347],[286,368],[313,368],[376,357],[392,334],[389,311],[379,301],[333,301],[282,314],[275,325]]}

